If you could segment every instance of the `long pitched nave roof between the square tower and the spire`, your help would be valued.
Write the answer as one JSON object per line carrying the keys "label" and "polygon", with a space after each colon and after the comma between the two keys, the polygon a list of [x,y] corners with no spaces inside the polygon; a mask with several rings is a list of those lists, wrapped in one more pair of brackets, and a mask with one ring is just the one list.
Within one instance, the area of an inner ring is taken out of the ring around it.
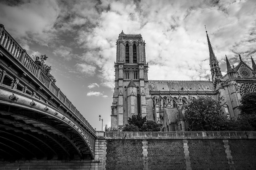
{"label": "long pitched nave roof between the square tower and the spire", "polygon": [[149,80],[150,91],[214,91],[212,81]]}

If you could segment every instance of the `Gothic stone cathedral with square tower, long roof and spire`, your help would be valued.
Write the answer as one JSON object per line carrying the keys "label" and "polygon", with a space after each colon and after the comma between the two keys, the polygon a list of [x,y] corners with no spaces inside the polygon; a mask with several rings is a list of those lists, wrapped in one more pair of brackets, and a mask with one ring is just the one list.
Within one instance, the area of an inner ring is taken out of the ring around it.
{"label": "Gothic stone cathedral with square tower, long roof and spire", "polygon": [[230,118],[239,115],[239,100],[256,91],[256,64],[250,68],[239,54],[240,62],[231,67],[226,56],[227,74],[222,75],[206,31],[212,80],[148,80],[145,41],[141,34],[119,34],[116,42],[115,88],[111,106],[111,127],[122,128],[128,118],[140,114],[162,124],[162,131],[186,131],[184,105],[198,96],[220,101]]}

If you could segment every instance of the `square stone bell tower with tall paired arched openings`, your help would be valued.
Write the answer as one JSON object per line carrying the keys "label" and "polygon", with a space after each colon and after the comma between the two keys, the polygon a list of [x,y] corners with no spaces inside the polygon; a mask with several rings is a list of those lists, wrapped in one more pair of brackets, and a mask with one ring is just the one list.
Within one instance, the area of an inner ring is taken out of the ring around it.
{"label": "square stone bell tower with tall paired arched openings", "polygon": [[128,118],[134,114],[143,117],[147,115],[148,64],[145,41],[140,34],[124,34],[123,31],[119,34],[114,67],[115,88],[111,106],[111,127],[119,128],[128,124]]}

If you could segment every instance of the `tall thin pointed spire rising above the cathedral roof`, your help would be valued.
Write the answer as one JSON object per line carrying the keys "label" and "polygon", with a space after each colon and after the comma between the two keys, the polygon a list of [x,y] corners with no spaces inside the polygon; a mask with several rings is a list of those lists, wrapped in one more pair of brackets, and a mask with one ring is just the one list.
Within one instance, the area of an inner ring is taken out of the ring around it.
{"label": "tall thin pointed spire rising above the cathedral roof", "polygon": [[222,77],[219,62],[213,52],[211,42],[209,40],[209,36],[207,34],[206,26],[205,26],[205,31],[206,31],[206,37],[207,37],[207,42],[208,42],[208,47],[209,47],[209,61],[210,61],[210,66],[211,66],[211,73],[212,73],[212,80],[215,81],[215,79],[220,79]]}

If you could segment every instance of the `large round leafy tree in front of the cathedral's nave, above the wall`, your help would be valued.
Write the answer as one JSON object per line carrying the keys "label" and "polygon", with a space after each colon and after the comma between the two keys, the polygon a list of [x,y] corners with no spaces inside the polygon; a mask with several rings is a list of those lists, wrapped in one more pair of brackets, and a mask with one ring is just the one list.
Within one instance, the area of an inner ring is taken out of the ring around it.
{"label": "large round leafy tree in front of the cathedral's nave, above the wall", "polygon": [[189,129],[193,131],[226,130],[227,116],[222,113],[219,101],[209,97],[199,97],[185,106]]}

